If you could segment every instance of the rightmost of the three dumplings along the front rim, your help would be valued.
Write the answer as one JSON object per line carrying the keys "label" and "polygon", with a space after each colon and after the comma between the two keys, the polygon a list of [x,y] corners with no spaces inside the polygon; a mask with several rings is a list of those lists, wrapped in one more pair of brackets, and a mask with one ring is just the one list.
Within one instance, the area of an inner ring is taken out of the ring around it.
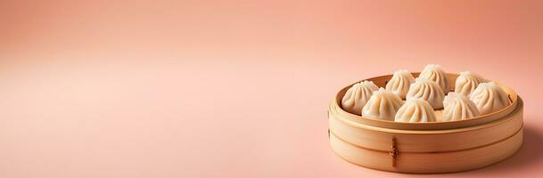
{"label": "rightmost of the three dumplings along the front rim", "polygon": [[448,93],[443,100],[442,121],[457,121],[481,115],[473,101],[460,93]]}

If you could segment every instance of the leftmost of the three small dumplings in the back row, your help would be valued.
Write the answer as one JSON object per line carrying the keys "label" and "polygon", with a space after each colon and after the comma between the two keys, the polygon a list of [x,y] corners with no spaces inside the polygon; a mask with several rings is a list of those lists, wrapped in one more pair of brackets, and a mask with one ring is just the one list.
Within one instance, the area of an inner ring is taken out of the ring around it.
{"label": "leftmost of the three small dumplings in the back row", "polygon": [[387,83],[386,90],[391,93],[398,94],[402,99],[406,98],[406,94],[409,91],[411,83],[415,82],[415,77],[411,75],[407,70],[401,69],[394,72],[391,81]]}

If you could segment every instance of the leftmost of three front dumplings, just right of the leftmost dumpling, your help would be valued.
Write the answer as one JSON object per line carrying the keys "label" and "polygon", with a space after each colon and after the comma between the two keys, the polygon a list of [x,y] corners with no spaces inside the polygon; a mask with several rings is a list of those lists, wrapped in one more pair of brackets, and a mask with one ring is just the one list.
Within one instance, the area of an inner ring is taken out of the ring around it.
{"label": "leftmost of three front dumplings, just right of the leftmost dumpling", "polygon": [[392,121],[402,104],[403,101],[398,95],[379,88],[362,109],[362,117]]}

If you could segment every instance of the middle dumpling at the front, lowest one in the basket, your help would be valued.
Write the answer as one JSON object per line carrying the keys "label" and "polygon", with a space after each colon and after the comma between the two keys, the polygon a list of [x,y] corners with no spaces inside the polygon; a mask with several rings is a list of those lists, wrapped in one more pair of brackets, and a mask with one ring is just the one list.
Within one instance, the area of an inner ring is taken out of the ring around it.
{"label": "middle dumpling at the front, lowest one in the basket", "polygon": [[420,98],[412,98],[407,99],[406,103],[399,108],[394,121],[410,123],[436,122],[437,117],[430,103]]}

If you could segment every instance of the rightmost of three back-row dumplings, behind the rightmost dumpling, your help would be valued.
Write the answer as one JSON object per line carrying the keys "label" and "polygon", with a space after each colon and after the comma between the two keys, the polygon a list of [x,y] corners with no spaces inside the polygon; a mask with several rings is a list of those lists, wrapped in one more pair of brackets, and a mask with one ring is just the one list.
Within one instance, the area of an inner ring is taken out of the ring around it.
{"label": "rightmost of three back-row dumplings, behind the rightmost dumpling", "polygon": [[464,71],[460,72],[460,76],[457,77],[455,85],[455,93],[460,93],[465,96],[469,96],[477,85],[483,83],[485,80],[473,72]]}

